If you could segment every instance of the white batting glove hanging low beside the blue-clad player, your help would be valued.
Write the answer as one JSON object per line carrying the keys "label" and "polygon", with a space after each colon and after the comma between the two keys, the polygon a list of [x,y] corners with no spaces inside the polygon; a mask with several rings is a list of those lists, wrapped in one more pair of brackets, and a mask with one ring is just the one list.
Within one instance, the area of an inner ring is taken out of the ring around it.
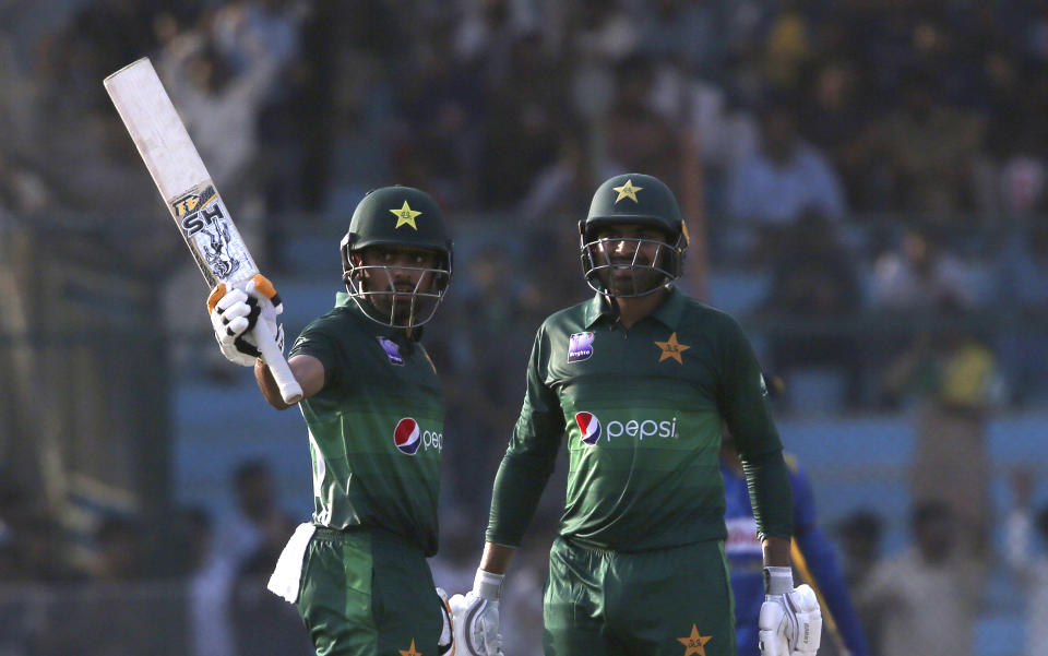
{"label": "white batting glove hanging low beside the blue-clad player", "polygon": [[794,588],[789,568],[765,568],[767,593],[758,622],[763,656],[815,656],[822,636],[822,611],[808,584]]}

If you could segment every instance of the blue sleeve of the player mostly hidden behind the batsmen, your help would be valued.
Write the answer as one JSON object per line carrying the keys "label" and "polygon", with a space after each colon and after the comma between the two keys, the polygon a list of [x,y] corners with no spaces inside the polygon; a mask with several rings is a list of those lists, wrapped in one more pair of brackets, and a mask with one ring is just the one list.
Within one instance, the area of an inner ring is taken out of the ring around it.
{"label": "blue sleeve of the player mostly hidden behind the batsmen", "polygon": [[824,628],[839,633],[851,656],[867,656],[869,647],[866,635],[851,605],[836,552],[815,521],[815,500],[811,482],[800,465],[793,458],[787,458],[794,492],[794,540],[802,557],[801,562],[794,564],[807,569],[807,577],[812,579],[811,584],[825,600],[823,612],[827,613],[832,621],[824,622]]}

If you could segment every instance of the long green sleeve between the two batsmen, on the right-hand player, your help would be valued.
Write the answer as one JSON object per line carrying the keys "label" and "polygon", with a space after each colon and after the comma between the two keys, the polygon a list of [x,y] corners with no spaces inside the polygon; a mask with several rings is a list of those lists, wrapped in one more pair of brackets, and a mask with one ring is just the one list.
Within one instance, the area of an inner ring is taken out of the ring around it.
{"label": "long green sleeve between the two batsmen, on the right-hand player", "polygon": [[524,406],[495,477],[487,540],[519,547],[553,472],[564,432],[557,394],[546,384],[549,342],[539,329],[527,366]]}

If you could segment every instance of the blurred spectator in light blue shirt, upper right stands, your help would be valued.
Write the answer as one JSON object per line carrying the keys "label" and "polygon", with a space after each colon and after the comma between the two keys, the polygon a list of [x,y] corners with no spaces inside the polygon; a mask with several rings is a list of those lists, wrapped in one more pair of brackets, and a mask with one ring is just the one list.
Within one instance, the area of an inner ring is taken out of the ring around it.
{"label": "blurred spectator in light blue shirt, upper right stands", "polygon": [[761,143],[736,166],[728,182],[727,212],[758,226],[784,226],[805,211],[831,219],[847,212],[836,171],[797,132],[788,102],[769,103],[761,112]]}

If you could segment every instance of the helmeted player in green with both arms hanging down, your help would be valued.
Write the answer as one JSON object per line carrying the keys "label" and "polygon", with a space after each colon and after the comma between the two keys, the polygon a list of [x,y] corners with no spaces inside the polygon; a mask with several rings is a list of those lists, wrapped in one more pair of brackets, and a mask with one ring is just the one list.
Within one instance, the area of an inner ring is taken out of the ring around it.
{"label": "helmeted player in green with both arms hanging down", "polygon": [[546,655],[734,656],[725,421],[757,509],[764,654],[814,654],[819,606],[810,587],[794,587],[789,480],[761,370],[735,320],[674,286],[689,240],[677,200],[651,176],[616,176],[596,190],[579,234],[596,294],[535,336],[474,587],[451,600],[457,648],[500,652],[503,577],[567,436]]}

